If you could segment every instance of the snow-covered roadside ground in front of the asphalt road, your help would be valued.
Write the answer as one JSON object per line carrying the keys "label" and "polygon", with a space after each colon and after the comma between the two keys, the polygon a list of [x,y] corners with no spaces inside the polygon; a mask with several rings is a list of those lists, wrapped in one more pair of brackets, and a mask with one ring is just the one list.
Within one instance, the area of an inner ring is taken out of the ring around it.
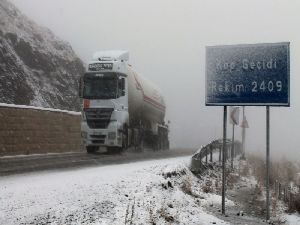
{"label": "snow-covered roadside ground in front of the asphalt road", "polygon": [[227,224],[204,211],[221,197],[189,160],[1,177],[0,224]]}

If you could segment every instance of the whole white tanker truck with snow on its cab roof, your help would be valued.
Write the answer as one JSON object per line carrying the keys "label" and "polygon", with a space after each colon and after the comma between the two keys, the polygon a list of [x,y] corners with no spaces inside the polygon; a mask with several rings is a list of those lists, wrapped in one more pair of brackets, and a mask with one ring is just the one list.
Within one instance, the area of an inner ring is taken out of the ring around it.
{"label": "whole white tanker truck with snow on its cab roof", "polygon": [[104,147],[169,148],[166,104],[159,88],[129,64],[128,51],[94,53],[80,77],[81,137],[88,153]]}

